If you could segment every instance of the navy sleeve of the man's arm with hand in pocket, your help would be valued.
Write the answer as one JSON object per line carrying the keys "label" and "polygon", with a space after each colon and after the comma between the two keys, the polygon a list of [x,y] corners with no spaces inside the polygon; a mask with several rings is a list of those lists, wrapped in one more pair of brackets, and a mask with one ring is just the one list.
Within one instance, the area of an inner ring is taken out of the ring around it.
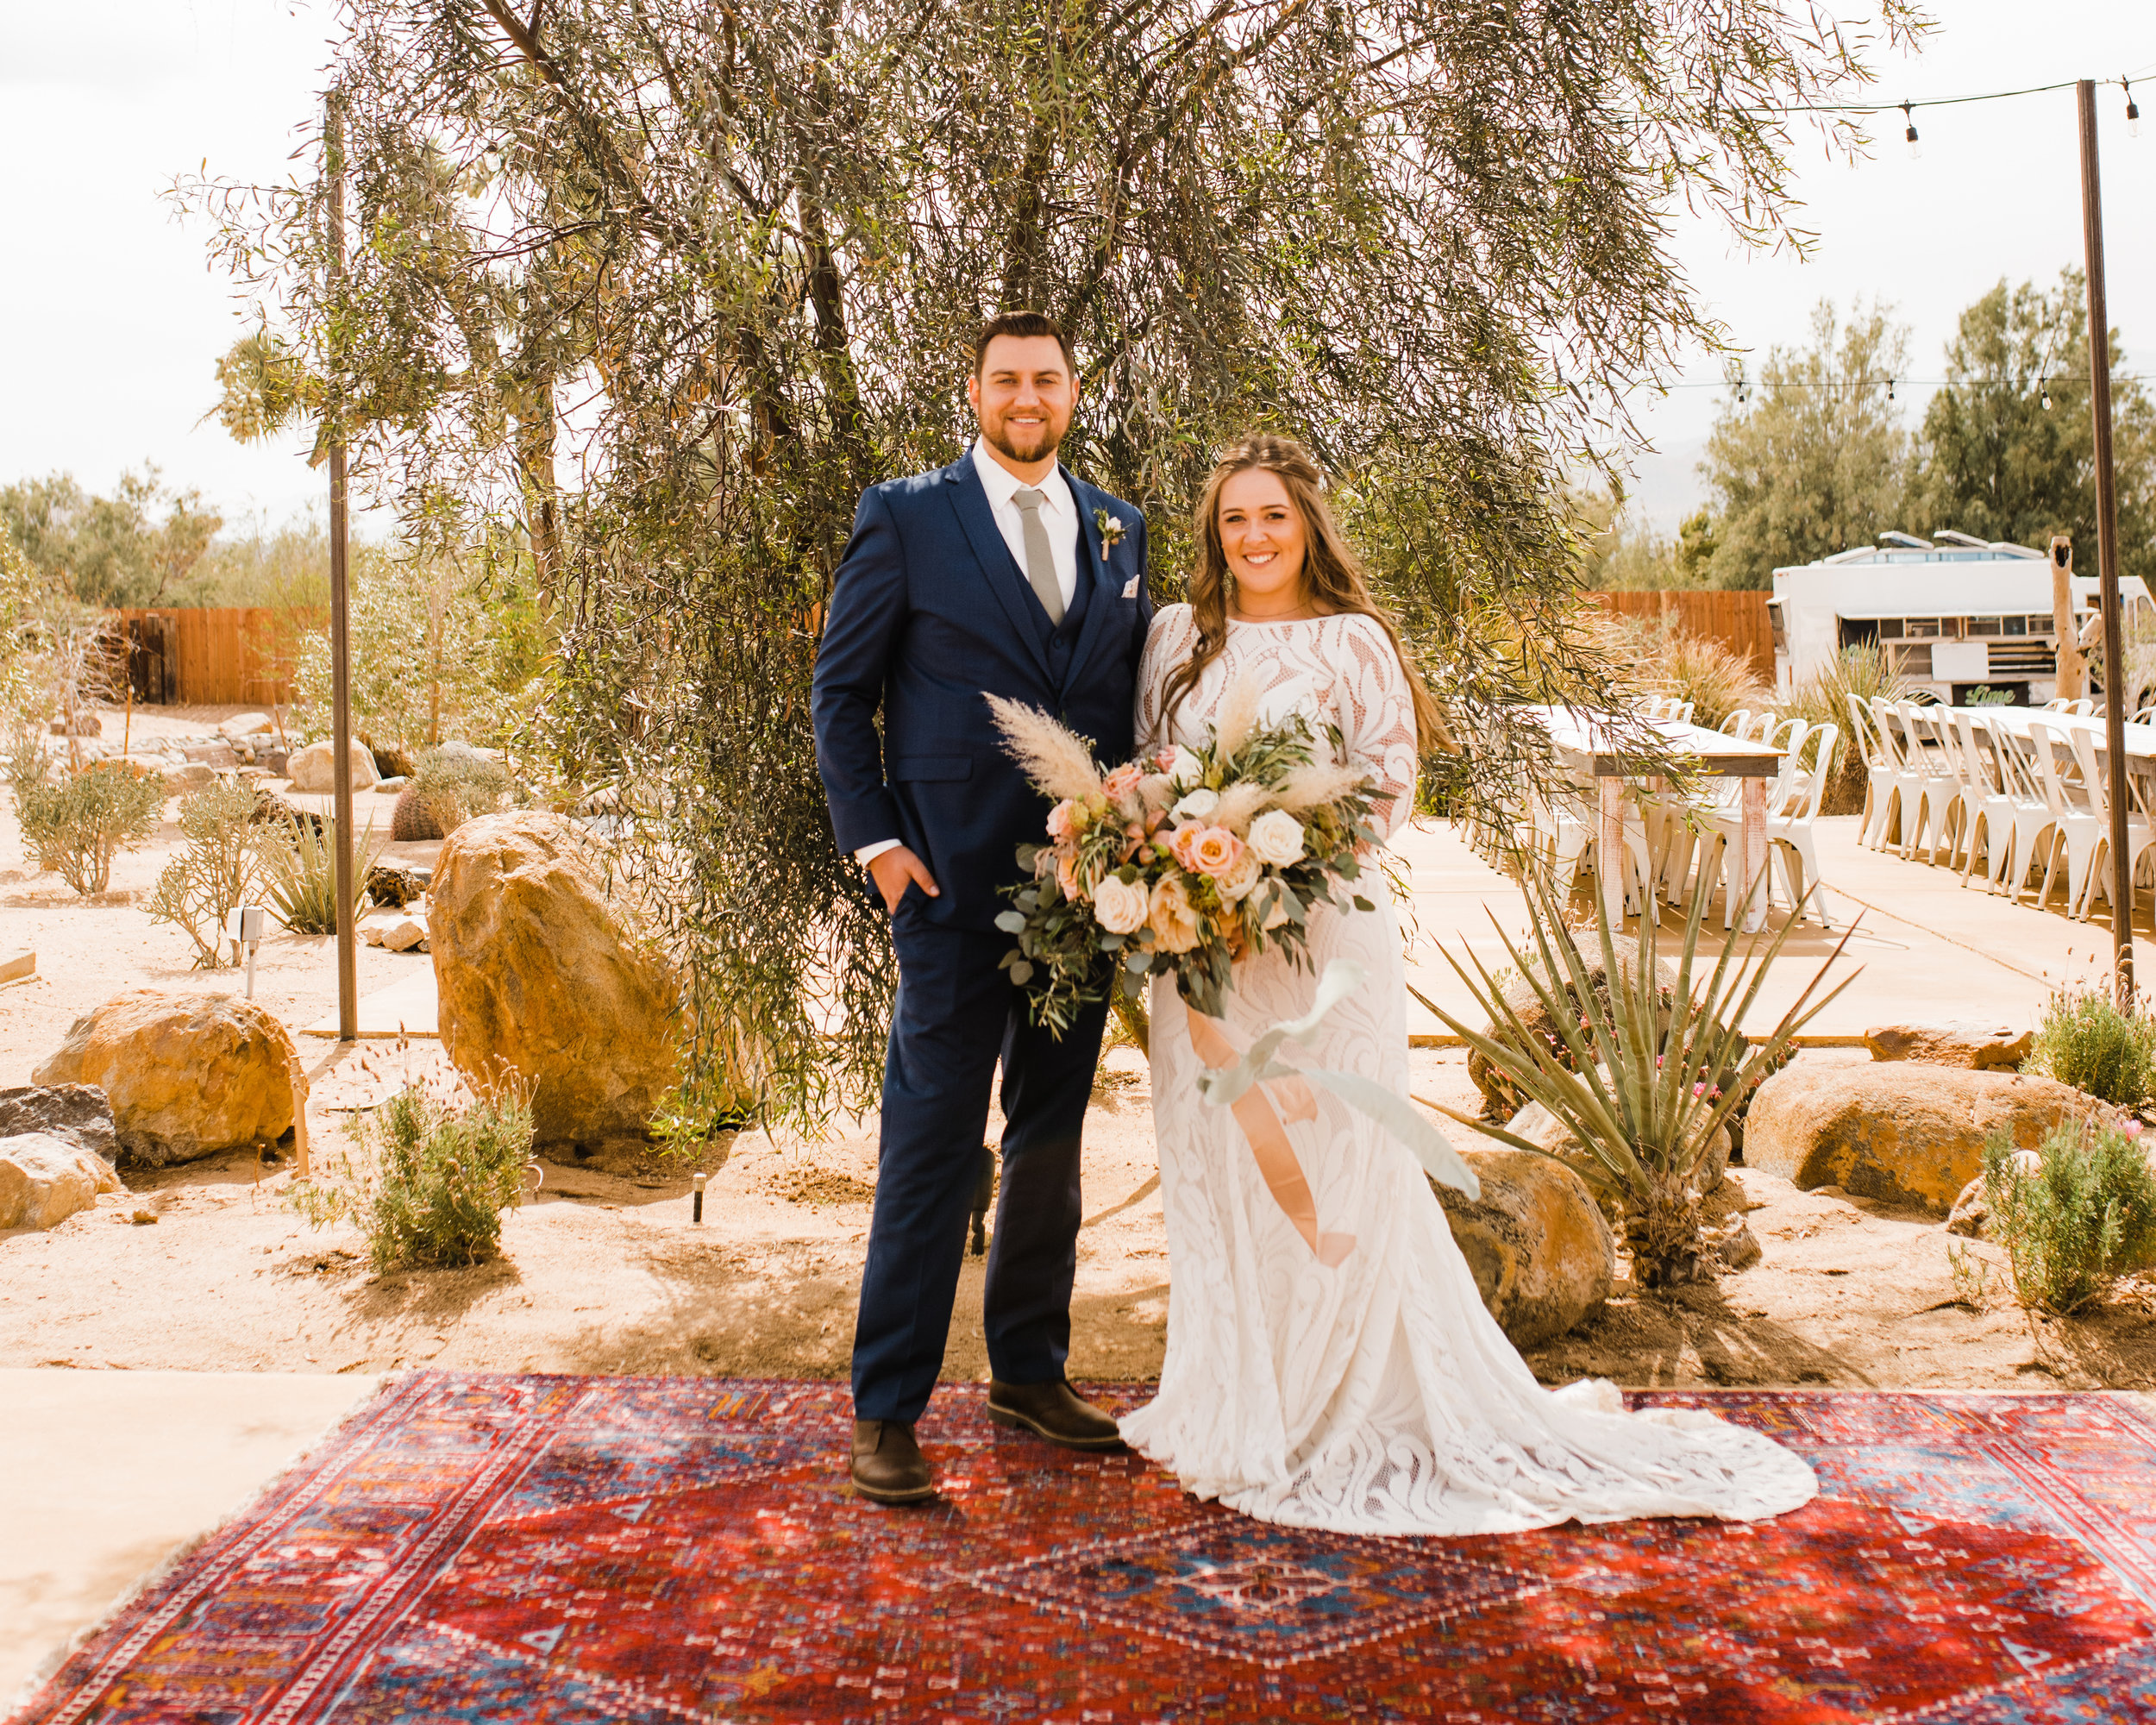
{"label": "navy sleeve of the man's arm with hand in pocket", "polygon": [[854,537],[832,582],[817,645],[808,714],[839,850],[858,852],[899,837],[899,811],[884,785],[875,709],[890,656],[906,630],[906,552],[882,492],[860,494]]}

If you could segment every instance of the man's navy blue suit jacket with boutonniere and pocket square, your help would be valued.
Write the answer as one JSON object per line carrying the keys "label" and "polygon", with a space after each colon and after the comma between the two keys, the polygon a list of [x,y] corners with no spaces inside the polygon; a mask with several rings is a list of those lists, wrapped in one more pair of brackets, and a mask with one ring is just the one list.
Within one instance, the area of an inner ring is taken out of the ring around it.
{"label": "man's navy blue suit jacket with boutonniere and pocket square", "polygon": [[[942,897],[912,914],[992,929],[1020,878],[1018,845],[1046,839],[1048,800],[1003,750],[983,694],[1005,694],[1132,755],[1138,656],[1153,619],[1145,518],[1063,470],[1078,505],[1078,582],[1061,640],[1011,556],[968,451],[949,468],[860,496],[817,649],[815,755],[839,847],[897,839]],[[1102,548],[1095,509],[1123,522]],[[875,714],[884,724],[877,735]]]}

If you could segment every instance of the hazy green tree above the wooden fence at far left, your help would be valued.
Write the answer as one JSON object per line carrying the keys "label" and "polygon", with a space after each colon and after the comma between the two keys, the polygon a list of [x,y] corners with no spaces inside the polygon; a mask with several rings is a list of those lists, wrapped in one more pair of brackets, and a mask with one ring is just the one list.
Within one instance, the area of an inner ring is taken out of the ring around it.
{"label": "hazy green tree above the wooden fence at far left", "polygon": [[65,472],[4,485],[0,520],[32,565],[88,606],[198,604],[192,576],[224,526],[201,492],[166,485],[155,466],[123,472],[112,496]]}

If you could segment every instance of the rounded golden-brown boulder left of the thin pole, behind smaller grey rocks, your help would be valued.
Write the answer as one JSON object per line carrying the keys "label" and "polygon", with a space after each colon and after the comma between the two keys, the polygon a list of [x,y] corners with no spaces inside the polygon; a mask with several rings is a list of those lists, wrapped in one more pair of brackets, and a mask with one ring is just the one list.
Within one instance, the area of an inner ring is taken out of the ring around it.
{"label": "rounded golden-brown boulder left of the thin pole, behind smaller grey rocks", "polygon": [[300,1050],[285,1026],[235,994],[132,988],[78,1018],[39,1085],[97,1085],[121,1149],[162,1167],[274,1143],[304,1104]]}

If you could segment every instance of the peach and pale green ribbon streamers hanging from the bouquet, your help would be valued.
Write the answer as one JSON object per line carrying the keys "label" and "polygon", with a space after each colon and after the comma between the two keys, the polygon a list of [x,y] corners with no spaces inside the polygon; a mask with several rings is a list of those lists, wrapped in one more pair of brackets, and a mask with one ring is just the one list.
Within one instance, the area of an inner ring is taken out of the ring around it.
{"label": "peach and pale green ribbon streamers hanging from the bouquet", "polygon": [[[1244,1136],[1250,1141],[1250,1151],[1257,1156],[1257,1167],[1266,1175],[1272,1197],[1287,1212],[1296,1231],[1311,1242],[1311,1251],[1328,1264],[1339,1264],[1348,1251],[1354,1251],[1354,1236],[1317,1231],[1317,1205],[1311,1199],[1302,1164],[1296,1162],[1296,1151],[1287,1143],[1287,1132],[1281,1128],[1272,1102],[1263,1091],[1255,1089],[1257,1085],[1276,1087],[1281,1102],[1289,1106],[1289,1119],[1315,1119],[1317,1100],[1309,1087],[1317,1085],[1404,1143],[1432,1179],[1466,1192],[1470,1199],[1481,1197],[1481,1182],[1460,1160],[1460,1151],[1453,1149],[1451,1141],[1384,1085],[1354,1072],[1291,1067],[1274,1059],[1283,1041],[1307,1037],[1324,1022],[1332,1007],[1360,985],[1360,964],[1345,957],[1332,960],[1317,981],[1317,996],[1311,1000],[1311,1009],[1302,1018],[1274,1024],[1259,1035],[1242,1059],[1235,1059],[1216,1020],[1190,1013],[1190,1046],[1212,1067],[1199,1074],[1199,1095],[1212,1106],[1229,1108],[1235,1115],[1238,1126],[1242,1126]],[[1304,1106],[1309,1113],[1302,1113]],[[1345,1251],[1339,1251],[1339,1257],[1328,1257],[1328,1242],[1345,1242]]]}

